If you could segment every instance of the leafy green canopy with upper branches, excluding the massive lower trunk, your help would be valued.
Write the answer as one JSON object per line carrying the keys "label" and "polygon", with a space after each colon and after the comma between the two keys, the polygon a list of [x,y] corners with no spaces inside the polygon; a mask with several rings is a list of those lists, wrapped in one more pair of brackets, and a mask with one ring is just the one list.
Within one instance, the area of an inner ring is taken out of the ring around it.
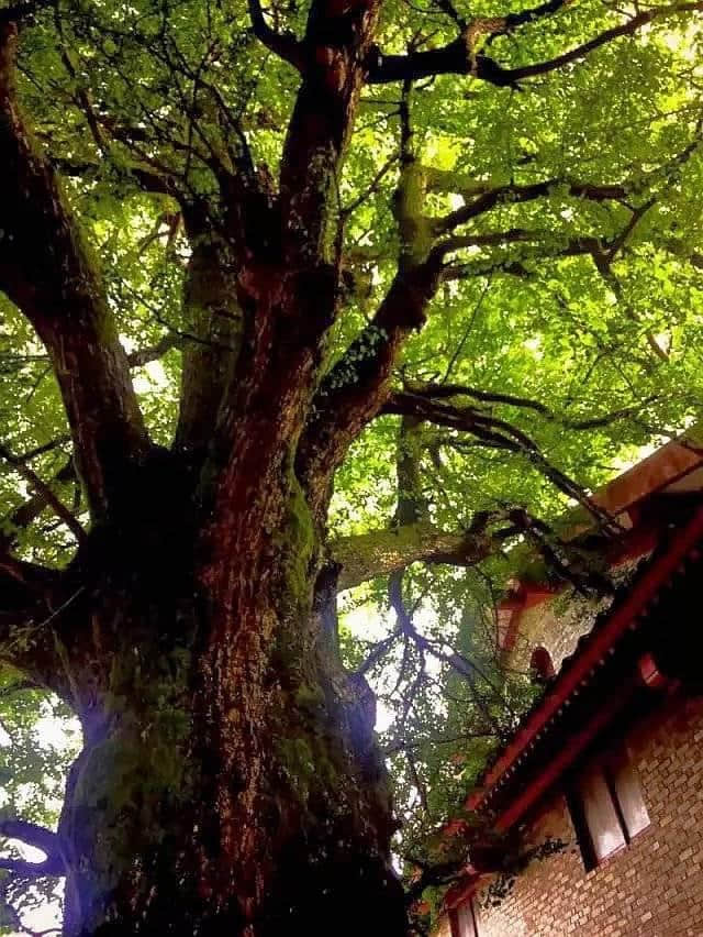
{"label": "leafy green canopy with upper branches, excluding the massive lower trunk", "polygon": [[[589,493],[700,416],[703,3],[369,10],[3,0],[0,717],[12,737],[47,705],[3,616],[121,509],[105,447],[216,441],[250,349],[242,271],[314,256],[334,315],[303,278],[277,360],[306,367],[310,337],[297,473],[419,856],[533,692],[494,660],[511,548],[579,585],[560,516],[607,526]],[[49,824],[65,764],[33,745],[0,749],[0,808]]]}

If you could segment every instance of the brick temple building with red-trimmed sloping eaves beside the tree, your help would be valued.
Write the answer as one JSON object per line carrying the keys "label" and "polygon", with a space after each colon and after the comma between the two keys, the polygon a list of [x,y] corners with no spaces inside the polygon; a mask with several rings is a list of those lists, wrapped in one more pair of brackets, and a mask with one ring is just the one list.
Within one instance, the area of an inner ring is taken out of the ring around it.
{"label": "brick temple building with red-trimmed sloping eaves beside the tree", "polygon": [[442,937],[703,935],[703,451],[668,443],[594,500],[626,529],[614,599],[522,582],[499,613],[543,692],[466,806],[527,859],[468,866]]}

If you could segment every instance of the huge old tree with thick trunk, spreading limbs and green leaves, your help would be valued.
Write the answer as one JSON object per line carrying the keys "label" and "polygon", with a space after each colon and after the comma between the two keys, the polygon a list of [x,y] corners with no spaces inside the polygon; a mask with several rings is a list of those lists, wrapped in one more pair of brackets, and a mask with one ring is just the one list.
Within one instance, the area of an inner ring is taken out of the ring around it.
{"label": "huge old tree with thick trunk, spreading limbs and green leaves", "polygon": [[500,735],[469,591],[582,581],[545,519],[698,409],[702,11],[3,0],[0,659],[83,748],[2,864],[66,935],[405,933],[383,756],[426,806],[448,672]]}

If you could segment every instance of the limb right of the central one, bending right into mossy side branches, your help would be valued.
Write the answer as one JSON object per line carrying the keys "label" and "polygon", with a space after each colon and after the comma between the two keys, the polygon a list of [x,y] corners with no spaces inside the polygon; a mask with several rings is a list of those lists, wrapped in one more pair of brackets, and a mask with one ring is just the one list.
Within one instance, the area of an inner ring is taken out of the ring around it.
{"label": "limb right of the central one, bending right into mossy side branches", "polygon": [[[311,419],[305,428],[298,454],[298,468],[303,484],[311,492],[313,504],[322,504],[330,490],[330,479],[341,464],[350,442],[364,426],[378,412],[401,412],[383,410],[390,393],[390,375],[393,362],[403,342],[413,329],[421,329],[425,321],[426,308],[440,282],[461,279],[467,276],[486,276],[492,273],[506,273],[527,276],[528,271],[521,260],[500,261],[498,264],[446,264],[445,257],[453,251],[467,246],[492,246],[501,243],[531,242],[537,240],[538,232],[523,228],[511,228],[500,232],[459,234],[447,236],[435,243],[442,234],[449,234],[455,228],[482,216],[503,202],[525,202],[548,196],[555,187],[563,186],[569,196],[595,202],[625,201],[633,194],[646,188],[649,183],[599,184],[583,180],[548,179],[531,185],[509,184],[484,189],[482,184],[456,178],[450,174],[422,166],[412,152],[412,128],[410,125],[408,82],[403,89],[401,102],[401,174],[394,198],[394,213],[401,239],[399,272],[384,300],[369,326],[352,343],[346,354],[337,362],[324,378],[314,401]],[[679,165],[688,158],[698,141],[690,144],[676,157]],[[659,170],[652,170],[654,177]],[[470,201],[450,212],[443,219],[427,218],[421,213],[427,190],[434,188],[456,191],[465,187],[470,190]],[[467,188],[468,187],[468,188]],[[618,242],[626,240],[633,224],[647,210],[651,199],[638,209],[631,209],[632,218],[623,232],[612,242],[602,242],[595,236],[582,236],[558,245],[550,254],[554,257],[568,257],[589,254],[598,263],[605,252],[617,250]],[[537,249],[535,257],[545,256]],[[531,253],[529,256],[533,254]],[[403,411],[405,412],[405,411]],[[410,411],[406,411],[410,412]],[[466,414],[465,414],[466,417]],[[506,426],[492,427],[484,418],[473,414],[472,422],[483,433],[487,443],[500,444],[513,451],[533,454],[531,460],[540,466],[565,493],[583,503],[583,494],[577,494],[571,483],[548,466],[542,455],[535,452],[534,443],[526,439],[512,441],[505,439]],[[480,426],[479,426],[480,425]],[[602,423],[599,423],[602,425]],[[588,428],[584,423],[581,428]],[[571,428],[579,428],[578,425]],[[514,429],[514,428],[513,428]],[[498,431],[498,432],[496,432]],[[488,434],[487,434],[488,433]],[[509,429],[509,436],[513,436]]]}

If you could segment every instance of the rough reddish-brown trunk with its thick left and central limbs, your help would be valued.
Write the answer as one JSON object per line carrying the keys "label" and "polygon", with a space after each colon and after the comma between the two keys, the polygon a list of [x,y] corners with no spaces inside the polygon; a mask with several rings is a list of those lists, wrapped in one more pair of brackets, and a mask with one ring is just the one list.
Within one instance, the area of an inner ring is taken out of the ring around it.
{"label": "rough reddish-brown trunk with its thick left and central limbs", "polygon": [[67,699],[85,734],[57,840],[67,937],[360,929],[371,907],[404,933],[373,699],[342,666],[324,508],[313,516],[293,467],[335,316],[330,192],[376,16],[373,0],[313,4],[267,217],[252,225],[266,199],[246,173],[223,179],[216,231],[185,205],[199,341],[170,452],[146,436],[2,25],[0,288],[54,362],[92,515],[63,574],[2,566],[3,657]]}

